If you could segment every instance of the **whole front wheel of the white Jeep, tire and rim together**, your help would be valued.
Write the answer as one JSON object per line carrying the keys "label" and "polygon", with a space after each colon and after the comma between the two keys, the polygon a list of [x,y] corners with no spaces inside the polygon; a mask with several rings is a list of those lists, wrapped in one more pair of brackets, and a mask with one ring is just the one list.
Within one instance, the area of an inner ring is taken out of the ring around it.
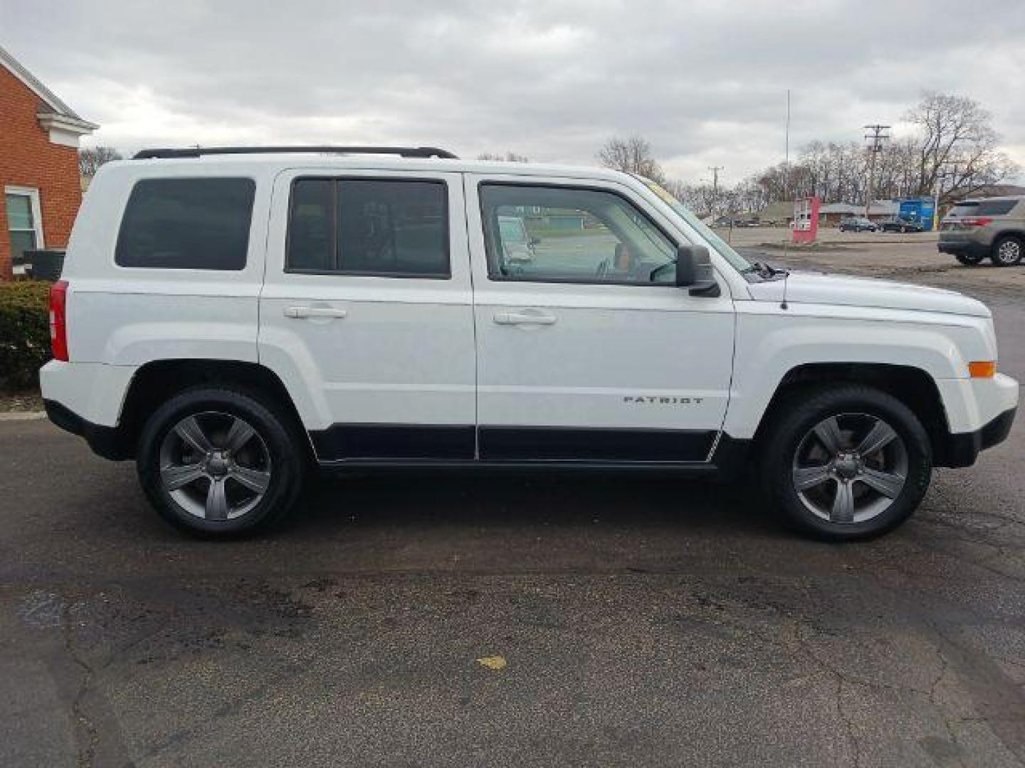
{"label": "whole front wheel of the white Jeep, tire and rim together", "polygon": [[932,476],[929,436],[897,398],[840,385],[776,410],[763,480],[791,525],[829,541],[870,539],[917,508]]}

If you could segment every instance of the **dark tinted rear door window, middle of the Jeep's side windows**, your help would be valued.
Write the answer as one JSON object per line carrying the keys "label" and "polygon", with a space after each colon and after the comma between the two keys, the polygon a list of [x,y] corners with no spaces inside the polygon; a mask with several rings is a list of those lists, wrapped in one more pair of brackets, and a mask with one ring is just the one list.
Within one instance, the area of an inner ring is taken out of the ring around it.
{"label": "dark tinted rear door window, middle of the Jeep's side windows", "polygon": [[449,278],[447,201],[441,181],[296,179],[286,268]]}

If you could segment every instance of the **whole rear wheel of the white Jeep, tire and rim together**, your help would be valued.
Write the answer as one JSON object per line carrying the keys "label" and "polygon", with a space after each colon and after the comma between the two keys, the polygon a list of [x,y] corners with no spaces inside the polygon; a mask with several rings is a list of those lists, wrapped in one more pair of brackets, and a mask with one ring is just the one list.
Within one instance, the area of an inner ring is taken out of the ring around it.
{"label": "whole rear wheel of the white Jeep, tire and rim together", "polygon": [[288,416],[231,389],[194,389],[147,422],[137,468],[167,522],[207,537],[265,528],[294,504],[304,446]]}

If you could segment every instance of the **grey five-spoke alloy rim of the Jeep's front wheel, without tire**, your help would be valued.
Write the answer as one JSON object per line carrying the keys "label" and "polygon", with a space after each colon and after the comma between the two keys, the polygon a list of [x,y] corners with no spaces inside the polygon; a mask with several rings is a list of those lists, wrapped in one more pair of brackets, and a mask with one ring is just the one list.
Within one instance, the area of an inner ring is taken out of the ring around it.
{"label": "grey five-spoke alloy rim of the Jeep's front wheel, without tire", "polygon": [[793,488],[817,517],[859,523],[886,512],[904,488],[904,440],[883,419],[839,414],[812,427],[793,457]]}

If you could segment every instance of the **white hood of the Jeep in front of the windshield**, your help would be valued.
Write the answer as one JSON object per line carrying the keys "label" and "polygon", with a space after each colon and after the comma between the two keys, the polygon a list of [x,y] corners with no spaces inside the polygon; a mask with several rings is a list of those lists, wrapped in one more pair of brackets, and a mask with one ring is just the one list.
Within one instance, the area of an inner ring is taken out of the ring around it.
{"label": "white hood of the Jeep in front of the windshield", "polygon": [[[794,303],[916,309],[925,312],[968,314],[974,317],[991,316],[989,308],[981,301],[942,288],[819,272],[791,272],[786,282],[786,299]],[[749,288],[751,297],[756,301],[781,301],[783,298],[782,280],[752,283]]]}

